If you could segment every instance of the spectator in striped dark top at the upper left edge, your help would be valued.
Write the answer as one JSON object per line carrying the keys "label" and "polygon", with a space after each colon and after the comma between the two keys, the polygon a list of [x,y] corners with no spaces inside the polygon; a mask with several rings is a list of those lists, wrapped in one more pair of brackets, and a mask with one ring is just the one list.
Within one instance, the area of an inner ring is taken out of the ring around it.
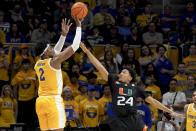
{"label": "spectator in striped dark top at the upper left edge", "polygon": [[4,33],[8,33],[10,31],[10,23],[5,21],[3,10],[0,10],[0,29],[2,29]]}

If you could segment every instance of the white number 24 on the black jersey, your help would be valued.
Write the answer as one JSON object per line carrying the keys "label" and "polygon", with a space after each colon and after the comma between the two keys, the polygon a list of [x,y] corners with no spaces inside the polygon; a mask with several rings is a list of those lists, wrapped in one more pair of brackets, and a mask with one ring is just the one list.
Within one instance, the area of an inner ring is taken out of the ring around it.
{"label": "white number 24 on the black jersey", "polygon": [[133,97],[129,97],[129,99],[127,100],[125,100],[124,96],[118,96],[117,98],[118,98],[117,105],[125,106],[127,104],[133,106]]}

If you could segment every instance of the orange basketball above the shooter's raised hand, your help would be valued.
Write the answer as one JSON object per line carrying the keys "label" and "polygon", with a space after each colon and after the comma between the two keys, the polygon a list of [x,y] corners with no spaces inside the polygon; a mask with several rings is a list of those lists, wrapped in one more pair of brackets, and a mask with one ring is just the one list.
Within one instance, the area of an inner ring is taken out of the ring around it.
{"label": "orange basketball above the shooter's raised hand", "polygon": [[88,13],[87,6],[82,2],[76,2],[71,7],[71,16],[77,16],[79,19],[84,18]]}

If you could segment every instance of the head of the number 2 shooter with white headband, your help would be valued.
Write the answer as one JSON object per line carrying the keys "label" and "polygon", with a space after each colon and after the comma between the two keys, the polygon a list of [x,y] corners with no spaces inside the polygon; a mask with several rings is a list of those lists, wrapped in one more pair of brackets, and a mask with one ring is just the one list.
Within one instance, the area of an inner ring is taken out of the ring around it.
{"label": "head of the number 2 shooter with white headband", "polygon": [[44,59],[52,58],[55,54],[53,46],[45,42],[38,43],[36,45],[35,51],[36,56],[40,56]]}

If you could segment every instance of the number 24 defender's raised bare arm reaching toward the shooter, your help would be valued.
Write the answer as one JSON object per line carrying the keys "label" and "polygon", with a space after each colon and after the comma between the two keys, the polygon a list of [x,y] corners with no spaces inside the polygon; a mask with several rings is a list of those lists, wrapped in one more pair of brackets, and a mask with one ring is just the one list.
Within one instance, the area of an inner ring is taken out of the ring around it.
{"label": "number 24 defender's raised bare arm reaching toward the shooter", "polygon": [[101,76],[105,81],[108,81],[108,71],[105,69],[105,67],[97,60],[97,58],[86,48],[84,43],[80,42],[80,47],[84,51],[84,53],[87,54],[90,61],[93,63],[93,65],[96,67],[96,69],[99,71]]}

